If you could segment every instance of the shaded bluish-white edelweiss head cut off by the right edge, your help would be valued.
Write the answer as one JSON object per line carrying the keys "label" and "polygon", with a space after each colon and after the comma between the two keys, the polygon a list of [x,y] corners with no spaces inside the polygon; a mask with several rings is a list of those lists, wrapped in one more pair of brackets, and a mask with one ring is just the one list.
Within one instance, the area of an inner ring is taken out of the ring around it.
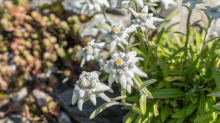
{"label": "shaded bluish-white edelweiss head cut off by the right edge", "polygon": [[206,9],[202,9],[202,10],[208,13],[209,15],[212,15],[215,20],[217,20],[220,17],[220,5],[213,8],[210,6],[206,6]]}

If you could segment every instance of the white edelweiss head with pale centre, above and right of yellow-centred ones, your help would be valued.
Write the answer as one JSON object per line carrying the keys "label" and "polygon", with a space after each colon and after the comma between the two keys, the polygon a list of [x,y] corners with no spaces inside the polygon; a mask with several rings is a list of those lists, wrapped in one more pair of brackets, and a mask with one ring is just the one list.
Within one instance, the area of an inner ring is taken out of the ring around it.
{"label": "white edelweiss head with pale centre, above and right of yellow-centred ones", "polygon": [[129,8],[131,13],[134,15],[135,19],[133,20],[132,26],[134,27],[140,27],[141,30],[144,32],[145,27],[149,27],[151,29],[156,29],[154,26],[155,21],[164,21],[162,18],[153,17],[153,13],[148,13],[149,8],[148,6],[145,6],[141,13],[137,13],[134,9]]}

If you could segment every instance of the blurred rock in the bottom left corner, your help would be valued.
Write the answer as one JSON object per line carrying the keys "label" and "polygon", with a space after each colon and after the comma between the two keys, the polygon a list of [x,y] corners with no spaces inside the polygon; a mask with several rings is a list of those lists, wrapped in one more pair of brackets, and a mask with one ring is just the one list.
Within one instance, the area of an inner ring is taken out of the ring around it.
{"label": "blurred rock in the bottom left corner", "polygon": [[30,121],[26,117],[23,117],[21,113],[9,114],[8,116],[1,118],[0,123],[37,123]]}

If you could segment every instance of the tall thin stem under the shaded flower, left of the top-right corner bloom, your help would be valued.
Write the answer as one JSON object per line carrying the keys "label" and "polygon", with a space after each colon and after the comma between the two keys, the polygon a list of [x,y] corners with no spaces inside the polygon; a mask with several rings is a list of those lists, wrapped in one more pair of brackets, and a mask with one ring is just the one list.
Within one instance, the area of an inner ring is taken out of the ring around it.
{"label": "tall thin stem under the shaded flower, left of the top-right corner bloom", "polygon": [[188,13],[188,18],[187,18],[187,23],[186,23],[187,28],[186,28],[186,43],[185,43],[185,59],[187,57],[187,46],[188,46],[188,41],[189,41],[191,15],[192,15],[192,10],[190,10]]}

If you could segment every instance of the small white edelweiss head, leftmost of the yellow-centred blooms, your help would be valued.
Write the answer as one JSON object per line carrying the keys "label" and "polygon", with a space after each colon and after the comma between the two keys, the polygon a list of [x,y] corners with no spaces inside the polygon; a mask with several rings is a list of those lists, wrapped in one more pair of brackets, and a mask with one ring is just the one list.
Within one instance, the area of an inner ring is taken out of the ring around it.
{"label": "small white edelweiss head, leftmost of the yellow-centred blooms", "polygon": [[76,57],[83,56],[80,66],[82,67],[85,62],[90,60],[98,60],[99,62],[104,62],[99,53],[105,47],[105,43],[95,43],[95,39],[92,39],[87,46],[82,48],[82,51],[76,54]]}

